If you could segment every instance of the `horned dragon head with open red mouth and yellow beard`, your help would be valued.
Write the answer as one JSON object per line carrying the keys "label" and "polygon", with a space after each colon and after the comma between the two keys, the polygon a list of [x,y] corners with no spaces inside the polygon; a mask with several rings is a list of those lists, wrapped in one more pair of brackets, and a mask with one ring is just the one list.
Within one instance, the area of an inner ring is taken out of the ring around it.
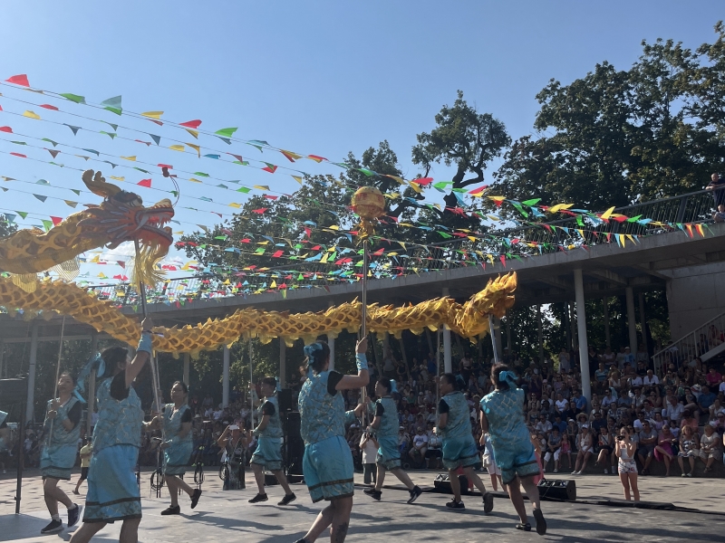
{"label": "horned dragon head with open red mouth and yellow beard", "polygon": [[159,281],[156,262],[167,255],[174,241],[171,229],[165,226],[174,216],[169,199],[144,207],[139,195],[106,183],[100,171],[93,175],[93,170],[86,170],[82,179],[93,194],[104,198],[101,205],[87,205],[86,218],[78,224],[82,235],[102,234],[111,249],[123,242],[138,242],[136,278],[146,283]]}

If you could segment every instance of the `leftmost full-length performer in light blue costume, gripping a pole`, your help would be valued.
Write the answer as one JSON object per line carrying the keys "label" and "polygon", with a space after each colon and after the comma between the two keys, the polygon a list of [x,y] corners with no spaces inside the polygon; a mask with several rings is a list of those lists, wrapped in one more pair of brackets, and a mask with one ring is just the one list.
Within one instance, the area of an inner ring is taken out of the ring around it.
{"label": "leftmost full-length performer in light blue costume, gripping a pole", "polygon": [[81,438],[82,406],[73,395],[73,377],[63,373],[58,380],[58,397],[48,402],[43,424],[43,452],[40,455],[40,471],[43,475],[43,497],[51,514],[51,522],[40,530],[42,534],[53,534],[63,530],[58,514],[60,501],[68,509],[68,528],[78,522],[81,508],[58,488],[58,481],[71,481],[71,470],[75,465],[78,440]]}

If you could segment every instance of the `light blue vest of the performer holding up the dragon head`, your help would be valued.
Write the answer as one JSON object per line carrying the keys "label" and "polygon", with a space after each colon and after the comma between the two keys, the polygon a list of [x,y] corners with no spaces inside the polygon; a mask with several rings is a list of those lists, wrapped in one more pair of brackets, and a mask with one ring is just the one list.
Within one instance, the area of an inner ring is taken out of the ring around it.
{"label": "light blue vest of the performer holding up the dragon head", "polygon": [[113,445],[140,447],[143,410],[139,396],[129,388],[124,400],[111,396],[112,378],[105,379],[98,387],[98,423],[93,430],[93,452],[101,452]]}

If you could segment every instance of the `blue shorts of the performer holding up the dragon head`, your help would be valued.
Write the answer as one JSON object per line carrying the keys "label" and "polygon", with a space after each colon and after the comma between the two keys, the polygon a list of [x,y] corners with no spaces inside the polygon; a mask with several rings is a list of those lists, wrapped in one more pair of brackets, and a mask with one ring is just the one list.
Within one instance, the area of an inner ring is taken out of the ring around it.
{"label": "blue shorts of the performer holding up the dragon head", "polygon": [[141,496],[135,473],[138,459],[139,448],[133,445],[113,445],[93,453],[83,522],[141,518]]}

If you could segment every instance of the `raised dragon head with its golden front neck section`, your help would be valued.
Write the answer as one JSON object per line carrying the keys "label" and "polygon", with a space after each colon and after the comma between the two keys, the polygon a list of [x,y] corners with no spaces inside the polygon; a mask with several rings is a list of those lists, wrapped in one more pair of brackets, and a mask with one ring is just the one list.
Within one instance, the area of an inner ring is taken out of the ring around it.
{"label": "raised dragon head with its golden front neck section", "polygon": [[165,227],[174,209],[168,199],[144,207],[139,195],[106,183],[101,172],[86,170],[83,183],[93,194],[103,196],[101,205],[72,214],[48,232],[37,228],[20,230],[0,239],[0,270],[34,274],[73,260],[97,247],[115,248],[122,242],[138,241],[136,262],[141,280],[157,279],[154,265],[169,252],[171,229]]}

